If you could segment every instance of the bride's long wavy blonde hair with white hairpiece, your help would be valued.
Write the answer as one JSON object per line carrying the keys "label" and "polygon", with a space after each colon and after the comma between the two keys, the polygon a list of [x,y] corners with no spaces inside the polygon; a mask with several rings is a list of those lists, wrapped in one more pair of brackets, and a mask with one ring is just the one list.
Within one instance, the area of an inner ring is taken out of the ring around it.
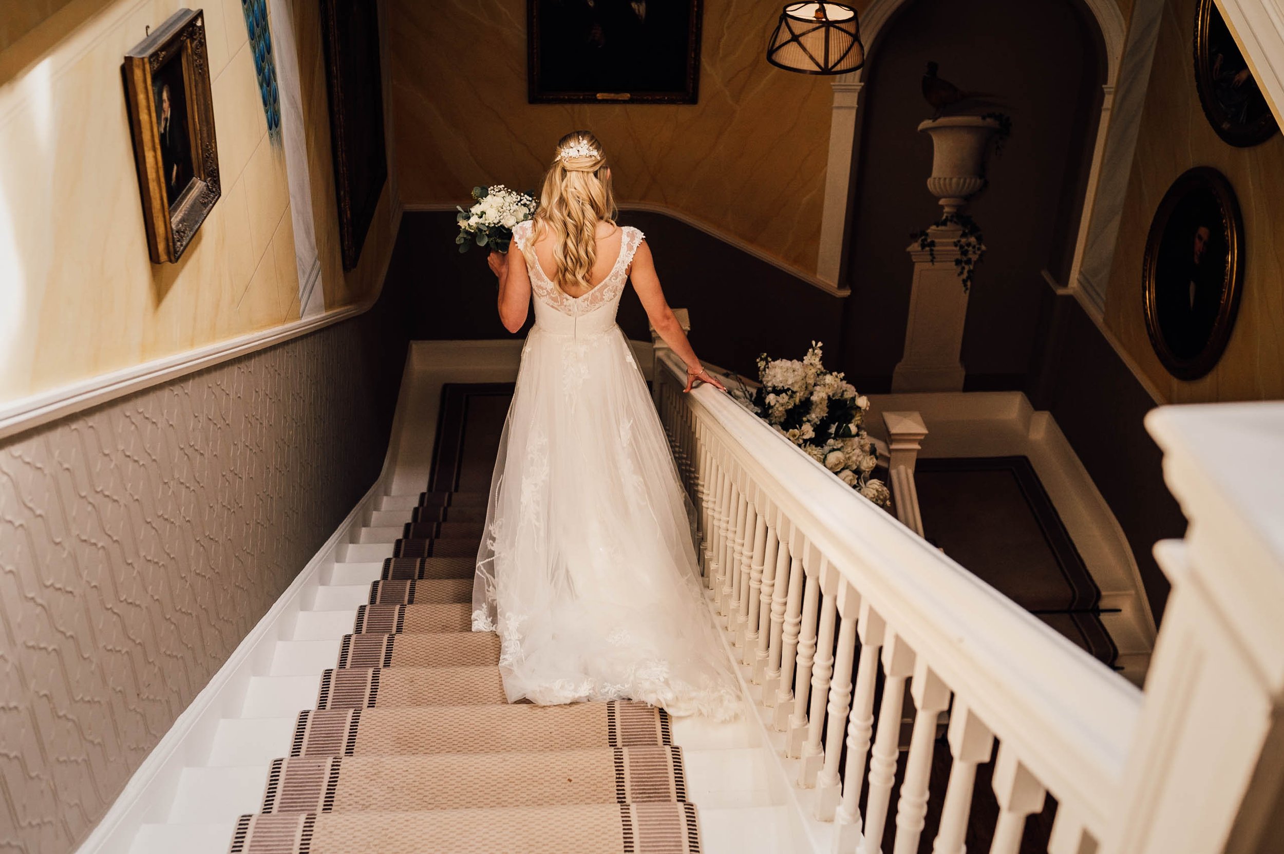
{"label": "bride's long wavy blonde hair with white hairpiece", "polygon": [[532,240],[523,254],[534,263],[533,244],[553,238],[553,281],[589,289],[597,261],[597,221],[615,225],[615,195],[602,144],[589,131],[571,131],[557,141],[539,191]]}

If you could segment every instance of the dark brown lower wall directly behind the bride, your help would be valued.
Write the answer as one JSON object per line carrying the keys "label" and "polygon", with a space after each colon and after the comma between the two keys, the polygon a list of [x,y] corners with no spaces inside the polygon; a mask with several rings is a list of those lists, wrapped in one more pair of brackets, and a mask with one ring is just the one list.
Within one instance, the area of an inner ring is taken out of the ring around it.
{"label": "dark brown lower wall directly behind the bride", "polygon": [[[620,222],[646,232],[665,297],[691,312],[691,342],[702,358],[756,376],[761,352],[801,358],[813,339],[837,351],[842,301],[679,220],[625,212]],[[389,276],[413,294],[412,338],[507,338],[484,256],[460,254],[455,234],[453,212],[402,217]],[[629,338],[651,339],[632,288],[620,301],[619,324]]]}

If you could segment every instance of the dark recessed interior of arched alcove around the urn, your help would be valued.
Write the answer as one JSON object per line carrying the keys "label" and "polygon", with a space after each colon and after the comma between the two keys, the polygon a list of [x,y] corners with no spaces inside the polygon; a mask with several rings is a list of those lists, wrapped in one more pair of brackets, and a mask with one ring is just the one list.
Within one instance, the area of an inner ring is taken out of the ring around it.
{"label": "dark recessed interior of arched alcove around the urn", "polygon": [[924,184],[931,141],[915,131],[932,114],[919,90],[936,60],[942,77],[993,92],[1013,119],[990,187],[969,205],[989,253],[976,272],[963,363],[969,388],[1021,388],[1036,357],[1046,279],[1067,281],[1073,265],[1112,54],[1076,0],[912,0],[878,23],[851,166],[842,366],[878,390],[901,356],[905,247],[940,216]]}

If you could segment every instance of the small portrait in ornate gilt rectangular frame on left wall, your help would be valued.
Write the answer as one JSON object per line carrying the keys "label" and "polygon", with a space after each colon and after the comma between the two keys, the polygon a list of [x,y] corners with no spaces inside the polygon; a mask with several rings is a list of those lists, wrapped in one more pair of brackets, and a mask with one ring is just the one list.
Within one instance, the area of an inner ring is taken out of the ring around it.
{"label": "small portrait in ornate gilt rectangular frame on left wall", "polygon": [[222,190],[200,9],[180,9],[121,68],[152,263],[182,257]]}

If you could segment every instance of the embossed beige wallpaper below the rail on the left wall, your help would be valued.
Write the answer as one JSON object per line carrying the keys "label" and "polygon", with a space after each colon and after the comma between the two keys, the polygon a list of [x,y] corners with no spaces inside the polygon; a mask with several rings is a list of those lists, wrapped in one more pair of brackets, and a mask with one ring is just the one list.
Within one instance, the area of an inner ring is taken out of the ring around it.
{"label": "embossed beige wallpaper below the rail on the left wall", "polygon": [[374,483],[389,303],[0,443],[0,851],[81,841]]}

